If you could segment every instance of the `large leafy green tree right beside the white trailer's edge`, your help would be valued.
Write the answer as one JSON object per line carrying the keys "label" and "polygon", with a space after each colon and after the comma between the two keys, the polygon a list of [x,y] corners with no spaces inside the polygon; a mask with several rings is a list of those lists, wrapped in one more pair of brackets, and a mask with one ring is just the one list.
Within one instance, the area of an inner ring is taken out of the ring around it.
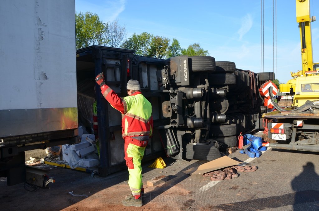
{"label": "large leafy green tree right beside the white trailer's edge", "polygon": [[97,14],[88,11],[75,16],[76,48],[108,43],[106,32],[108,25],[103,23]]}

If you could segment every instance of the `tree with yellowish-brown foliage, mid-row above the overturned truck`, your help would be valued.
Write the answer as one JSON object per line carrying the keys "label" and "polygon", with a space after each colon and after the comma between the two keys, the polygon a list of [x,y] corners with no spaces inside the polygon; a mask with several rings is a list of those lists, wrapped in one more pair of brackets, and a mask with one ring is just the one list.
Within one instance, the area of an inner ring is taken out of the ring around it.
{"label": "tree with yellowish-brown foliage, mid-row above the overturned truck", "polygon": [[166,37],[160,37],[160,36],[152,36],[152,41],[150,43],[150,49],[149,49],[149,57],[154,57],[161,59],[163,56],[165,56],[169,39]]}

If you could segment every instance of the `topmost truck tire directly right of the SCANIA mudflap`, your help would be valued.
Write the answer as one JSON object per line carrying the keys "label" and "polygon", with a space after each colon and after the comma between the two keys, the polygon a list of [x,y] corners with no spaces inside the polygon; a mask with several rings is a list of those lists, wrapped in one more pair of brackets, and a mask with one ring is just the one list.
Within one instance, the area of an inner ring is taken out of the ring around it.
{"label": "topmost truck tire directly right of the SCANIA mudflap", "polygon": [[189,69],[193,72],[214,72],[215,58],[211,56],[189,56]]}

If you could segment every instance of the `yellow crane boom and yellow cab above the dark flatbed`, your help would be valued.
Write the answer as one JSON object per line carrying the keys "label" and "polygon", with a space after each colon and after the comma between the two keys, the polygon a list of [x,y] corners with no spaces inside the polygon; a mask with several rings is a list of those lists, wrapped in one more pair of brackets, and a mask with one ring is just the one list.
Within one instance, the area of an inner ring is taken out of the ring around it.
{"label": "yellow crane boom and yellow cab above the dark flatbed", "polygon": [[307,100],[319,100],[319,63],[313,63],[311,22],[315,16],[310,16],[310,0],[296,0],[296,17],[299,23],[301,41],[302,70],[291,72],[293,79],[287,84],[280,84],[279,90],[284,93],[294,93],[293,107],[300,107]]}

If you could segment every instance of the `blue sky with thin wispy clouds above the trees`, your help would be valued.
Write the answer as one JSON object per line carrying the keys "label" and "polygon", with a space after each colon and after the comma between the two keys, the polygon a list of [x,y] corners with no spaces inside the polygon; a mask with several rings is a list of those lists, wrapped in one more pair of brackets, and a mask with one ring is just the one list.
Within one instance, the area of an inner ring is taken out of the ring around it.
{"label": "blue sky with thin wispy clouds above the trees", "polygon": [[[75,0],[75,7],[77,12],[96,13],[103,22],[118,19],[126,27],[126,38],[147,32],[176,38],[182,48],[199,43],[216,61],[235,62],[237,68],[254,72],[274,71],[286,83],[291,71],[302,69],[295,1],[277,0],[277,50],[273,1],[264,2],[263,65],[260,0]],[[310,0],[310,13],[318,17],[311,23],[313,49],[318,49],[319,1]],[[319,62],[318,51],[313,50],[313,57]]]}

